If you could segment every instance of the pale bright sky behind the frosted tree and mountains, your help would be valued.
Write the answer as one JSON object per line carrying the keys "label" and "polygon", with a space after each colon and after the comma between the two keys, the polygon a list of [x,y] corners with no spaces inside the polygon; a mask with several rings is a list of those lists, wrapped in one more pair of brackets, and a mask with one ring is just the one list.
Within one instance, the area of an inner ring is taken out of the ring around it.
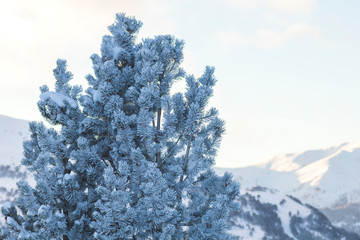
{"label": "pale bright sky behind the frosted tree and mountains", "polygon": [[[0,114],[42,120],[39,87],[56,59],[86,86],[115,13],[144,25],[138,41],[185,41],[183,67],[216,68],[210,105],[226,121],[218,167],[360,140],[360,1],[0,0]],[[182,87],[177,84],[177,88]]]}

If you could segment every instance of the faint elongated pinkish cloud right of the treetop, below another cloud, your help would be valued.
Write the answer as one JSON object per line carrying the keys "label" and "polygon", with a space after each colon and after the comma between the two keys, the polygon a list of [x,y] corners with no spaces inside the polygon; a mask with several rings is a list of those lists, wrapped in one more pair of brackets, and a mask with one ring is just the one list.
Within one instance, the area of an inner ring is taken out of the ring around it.
{"label": "faint elongated pinkish cloud right of the treetop, below another cloud", "polygon": [[306,23],[295,23],[284,31],[260,29],[253,36],[245,36],[238,31],[223,31],[214,35],[221,42],[222,48],[236,45],[252,45],[263,49],[273,49],[283,46],[286,42],[301,38],[320,38],[323,34],[318,27]]}

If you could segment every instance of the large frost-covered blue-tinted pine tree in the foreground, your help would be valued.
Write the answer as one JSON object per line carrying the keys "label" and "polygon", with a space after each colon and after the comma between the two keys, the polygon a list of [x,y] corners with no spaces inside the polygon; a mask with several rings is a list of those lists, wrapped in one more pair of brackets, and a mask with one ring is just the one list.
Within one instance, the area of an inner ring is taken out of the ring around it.
{"label": "large frost-covered blue-tinted pine tree in the foreground", "polygon": [[[142,23],[116,15],[85,93],[71,86],[66,61],[55,91],[41,87],[42,116],[30,124],[22,164],[36,185],[18,183],[2,212],[3,239],[229,239],[238,185],[214,164],[224,122],[207,107],[214,69],[200,78],[180,68],[173,36],[135,42]],[[185,93],[171,95],[177,80]]]}

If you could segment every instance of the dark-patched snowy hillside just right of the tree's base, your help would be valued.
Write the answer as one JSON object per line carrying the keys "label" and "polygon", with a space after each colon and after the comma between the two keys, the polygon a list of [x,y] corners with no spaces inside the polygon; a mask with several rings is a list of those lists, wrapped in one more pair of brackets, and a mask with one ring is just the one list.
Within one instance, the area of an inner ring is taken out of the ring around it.
{"label": "dark-patched snowy hillside just right of the tree's base", "polygon": [[360,239],[331,225],[315,208],[262,187],[243,191],[241,208],[230,218],[231,233],[240,239]]}

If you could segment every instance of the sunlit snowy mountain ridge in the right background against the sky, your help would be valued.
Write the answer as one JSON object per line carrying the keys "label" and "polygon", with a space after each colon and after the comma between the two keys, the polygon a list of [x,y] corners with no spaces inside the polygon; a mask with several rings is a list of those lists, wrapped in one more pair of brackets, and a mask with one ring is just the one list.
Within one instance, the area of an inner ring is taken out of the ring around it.
{"label": "sunlit snowy mountain ridge in the right background against the sky", "polygon": [[259,165],[216,169],[231,172],[246,188],[264,186],[317,208],[360,202],[360,144],[280,155]]}

